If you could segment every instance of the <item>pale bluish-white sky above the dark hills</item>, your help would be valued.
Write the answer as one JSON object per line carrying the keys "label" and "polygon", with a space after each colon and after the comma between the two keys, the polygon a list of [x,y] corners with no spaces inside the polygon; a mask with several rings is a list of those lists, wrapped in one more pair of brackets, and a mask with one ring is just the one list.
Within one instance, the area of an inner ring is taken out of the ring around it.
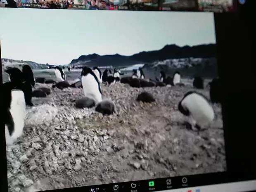
{"label": "pale bluish-white sky above the dark hills", "polygon": [[2,58],[43,64],[216,43],[210,12],[0,8],[0,18]]}

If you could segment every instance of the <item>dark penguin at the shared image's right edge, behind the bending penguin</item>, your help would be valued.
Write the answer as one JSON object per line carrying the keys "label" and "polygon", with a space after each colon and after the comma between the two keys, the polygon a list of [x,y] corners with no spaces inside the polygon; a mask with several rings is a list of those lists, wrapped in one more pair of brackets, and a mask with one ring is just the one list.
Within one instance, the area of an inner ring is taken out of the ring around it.
{"label": "dark penguin at the shared image's right edge, behind the bending penguin", "polygon": [[220,80],[218,78],[213,78],[209,83],[210,85],[210,99],[212,103],[221,102],[221,91],[220,91]]}

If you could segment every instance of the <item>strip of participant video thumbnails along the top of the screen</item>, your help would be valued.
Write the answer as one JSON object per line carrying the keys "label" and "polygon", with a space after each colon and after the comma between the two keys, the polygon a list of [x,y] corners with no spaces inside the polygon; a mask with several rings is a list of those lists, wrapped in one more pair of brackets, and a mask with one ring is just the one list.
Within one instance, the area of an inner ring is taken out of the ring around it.
{"label": "strip of participant video thumbnails along the top of the screen", "polygon": [[0,0],[0,7],[236,12],[237,0]]}

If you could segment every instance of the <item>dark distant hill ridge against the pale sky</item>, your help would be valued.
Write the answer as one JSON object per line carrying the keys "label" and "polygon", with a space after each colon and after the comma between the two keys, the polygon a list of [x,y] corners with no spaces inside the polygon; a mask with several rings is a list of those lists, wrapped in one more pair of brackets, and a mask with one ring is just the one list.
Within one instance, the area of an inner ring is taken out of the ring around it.
{"label": "dark distant hill ridge against the pale sky", "polygon": [[149,63],[176,58],[213,58],[216,57],[216,44],[179,47],[166,45],[161,50],[143,51],[131,56],[123,55],[81,55],[73,59],[72,66],[128,66],[137,63]]}

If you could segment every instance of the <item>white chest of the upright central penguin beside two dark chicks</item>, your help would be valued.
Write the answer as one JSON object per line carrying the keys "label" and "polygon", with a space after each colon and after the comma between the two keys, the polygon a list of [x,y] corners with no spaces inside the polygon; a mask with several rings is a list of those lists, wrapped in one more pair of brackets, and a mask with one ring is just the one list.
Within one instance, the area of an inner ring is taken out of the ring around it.
{"label": "white chest of the upright central penguin beside two dark chicks", "polygon": [[99,84],[95,80],[92,74],[87,74],[86,76],[82,76],[82,85],[83,85],[83,93],[86,97],[90,97],[95,100],[95,102],[102,101],[102,95],[99,90]]}

